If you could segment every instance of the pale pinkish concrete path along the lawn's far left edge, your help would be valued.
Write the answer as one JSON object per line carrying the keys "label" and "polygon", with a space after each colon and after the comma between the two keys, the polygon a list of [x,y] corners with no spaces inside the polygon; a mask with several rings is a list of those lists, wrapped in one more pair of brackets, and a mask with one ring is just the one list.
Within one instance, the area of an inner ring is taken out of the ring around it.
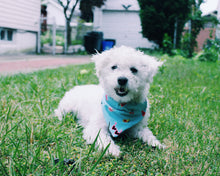
{"label": "pale pinkish concrete path along the lawn's far left edge", "polygon": [[66,65],[86,64],[91,56],[78,55],[13,55],[0,56],[0,75],[27,73]]}

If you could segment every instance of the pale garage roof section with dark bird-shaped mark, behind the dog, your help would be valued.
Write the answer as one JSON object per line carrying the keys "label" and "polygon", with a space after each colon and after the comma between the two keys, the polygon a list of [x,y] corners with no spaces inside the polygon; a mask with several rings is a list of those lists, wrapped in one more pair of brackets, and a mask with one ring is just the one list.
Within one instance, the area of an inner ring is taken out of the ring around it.
{"label": "pale garage roof section with dark bird-shaped mark, behind the dog", "polygon": [[107,0],[102,9],[139,11],[140,7],[137,0]]}

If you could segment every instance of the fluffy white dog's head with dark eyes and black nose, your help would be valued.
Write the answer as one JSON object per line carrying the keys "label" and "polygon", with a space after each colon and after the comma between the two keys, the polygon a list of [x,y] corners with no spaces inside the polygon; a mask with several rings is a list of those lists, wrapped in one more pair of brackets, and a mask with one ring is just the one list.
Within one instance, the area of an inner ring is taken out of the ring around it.
{"label": "fluffy white dog's head with dark eyes and black nose", "polygon": [[93,56],[105,93],[118,102],[145,100],[161,62],[129,47],[113,48]]}

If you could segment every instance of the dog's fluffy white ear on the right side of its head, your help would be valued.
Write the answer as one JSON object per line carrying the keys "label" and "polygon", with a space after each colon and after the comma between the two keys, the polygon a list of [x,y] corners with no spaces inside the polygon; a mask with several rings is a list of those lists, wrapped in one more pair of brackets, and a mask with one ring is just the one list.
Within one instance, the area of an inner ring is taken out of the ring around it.
{"label": "dog's fluffy white ear on the right side of its head", "polygon": [[163,63],[164,62],[158,61],[155,57],[145,55],[146,81],[148,83],[153,82],[153,77],[156,75],[159,67],[161,67]]}

